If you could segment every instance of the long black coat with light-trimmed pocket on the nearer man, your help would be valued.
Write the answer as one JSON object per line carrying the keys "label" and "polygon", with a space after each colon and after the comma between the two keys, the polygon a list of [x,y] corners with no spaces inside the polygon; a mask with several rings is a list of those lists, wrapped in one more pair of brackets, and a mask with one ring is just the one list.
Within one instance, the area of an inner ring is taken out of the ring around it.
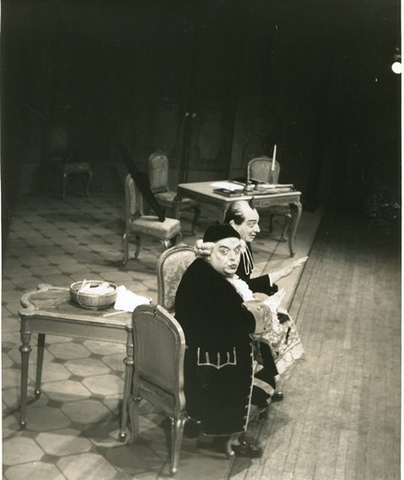
{"label": "long black coat with light-trimmed pocket on the nearer man", "polygon": [[195,260],[178,287],[175,317],[184,329],[187,413],[211,435],[247,426],[252,392],[253,315],[222,275]]}

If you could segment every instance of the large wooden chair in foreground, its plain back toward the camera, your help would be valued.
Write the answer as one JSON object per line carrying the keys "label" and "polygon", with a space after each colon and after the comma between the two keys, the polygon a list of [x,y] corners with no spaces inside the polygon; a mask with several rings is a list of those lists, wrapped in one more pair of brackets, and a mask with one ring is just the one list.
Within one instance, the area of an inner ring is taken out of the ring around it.
{"label": "large wooden chair in foreground, its plain back toward the camera", "polygon": [[143,398],[171,420],[170,474],[178,469],[185,414],[185,336],[163,307],[141,305],[132,316],[133,389],[129,398],[131,443],[139,436],[139,402]]}

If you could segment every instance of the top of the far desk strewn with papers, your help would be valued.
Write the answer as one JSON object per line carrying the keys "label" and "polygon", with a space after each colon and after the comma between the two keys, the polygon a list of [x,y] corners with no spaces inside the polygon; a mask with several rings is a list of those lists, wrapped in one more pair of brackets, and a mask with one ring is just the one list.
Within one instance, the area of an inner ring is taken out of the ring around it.
{"label": "top of the far desk strewn with papers", "polygon": [[194,193],[197,195],[200,195],[202,197],[206,197],[209,199],[214,199],[217,200],[218,202],[222,203],[233,203],[237,200],[251,200],[252,198],[273,198],[279,201],[287,202],[288,199],[290,198],[299,198],[301,195],[301,192],[297,190],[292,190],[289,192],[285,193],[271,193],[271,192],[265,192],[262,193],[258,190],[252,191],[251,193],[246,194],[244,191],[240,193],[240,195],[237,196],[225,196],[225,195],[220,195],[218,193],[215,193],[214,190],[214,185],[217,183],[228,183],[229,180],[216,180],[216,181],[210,181],[210,182],[195,182],[195,183],[180,183],[177,187],[177,193]]}

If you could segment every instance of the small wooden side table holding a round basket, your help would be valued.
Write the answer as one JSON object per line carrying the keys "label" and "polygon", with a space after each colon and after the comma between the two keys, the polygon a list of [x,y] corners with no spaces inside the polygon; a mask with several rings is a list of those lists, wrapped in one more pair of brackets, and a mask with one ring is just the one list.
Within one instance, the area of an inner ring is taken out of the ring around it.
{"label": "small wooden side table holding a round basket", "polygon": [[[41,395],[41,379],[45,336],[60,335],[126,345],[125,381],[119,438],[124,441],[127,434],[127,403],[132,389],[133,376],[133,330],[132,313],[117,313],[113,308],[87,310],[76,305],[70,298],[69,288],[41,284],[38,290],[21,297],[21,407],[20,426],[27,424],[28,364],[31,335],[38,334],[38,356],[35,397]],[[108,315],[116,313],[115,315]]]}

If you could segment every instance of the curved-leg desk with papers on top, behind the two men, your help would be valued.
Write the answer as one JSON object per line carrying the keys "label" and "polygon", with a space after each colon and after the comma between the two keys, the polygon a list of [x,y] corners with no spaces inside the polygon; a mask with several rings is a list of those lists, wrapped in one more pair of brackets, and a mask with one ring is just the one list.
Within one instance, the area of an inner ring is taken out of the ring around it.
{"label": "curved-leg desk with papers on top, behind the two men", "polygon": [[[226,181],[226,180],[224,180]],[[219,210],[219,220],[223,221],[229,206],[238,200],[253,200],[256,208],[268,208],[274,205],[288,204],[291,208],[292,221],[289,225],[288,242],[290,256],[295,254],[294,239],[296,230],[302,215],[302,204],[300,203],[301,192],[291,191],[287,193],[245,193],[240,192],[237,197],[226,197],[213,191],[212,183],[215,182],[196,182],[196,183],[180,183],[177,187],[176,201],[182,198],[192,198],[200,203],[208,203],[215,206]],[[178,217],[177,217],[178,218]]]}

